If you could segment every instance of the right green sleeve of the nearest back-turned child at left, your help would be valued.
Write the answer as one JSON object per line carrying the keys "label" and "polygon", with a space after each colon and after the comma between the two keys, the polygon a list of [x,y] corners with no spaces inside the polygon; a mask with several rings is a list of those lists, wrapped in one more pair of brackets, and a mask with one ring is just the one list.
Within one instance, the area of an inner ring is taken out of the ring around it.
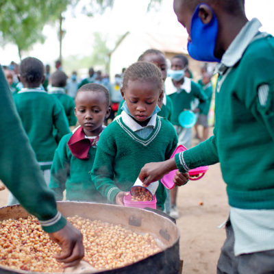
{"label": "right green sleeve of the nearest back-turned child at left", "polygon": [[[54,98],[55,99],[55,98]],[[54,125],[56,128],[56,141],[60,142],[62,136],[71,132],[69,129],[69,122],[66,118],[66,112],[64,112],[64,107],[58,99],[55,99],[55,108],[53,113]]]}

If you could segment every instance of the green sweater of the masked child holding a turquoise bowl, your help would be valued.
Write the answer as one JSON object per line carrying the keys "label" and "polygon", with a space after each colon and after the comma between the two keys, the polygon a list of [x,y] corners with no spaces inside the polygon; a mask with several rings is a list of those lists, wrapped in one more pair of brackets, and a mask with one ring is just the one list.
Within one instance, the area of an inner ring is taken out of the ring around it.
{"label": "green sweater of the masked child holding a turquoise bowl", "polygon": [[174,92],[168,95],[173,103],[173,115],[171,116],[171,123],[173,125],[179,125],[179,114],[184,110],[191,110],[191,103],[197,98],[199,99],[198,108],[203,110],[204,104],[207,101],[207,97],[198,84],[191,81],[190,92],[186,92],[184,89],[180,89],[179,92]]}

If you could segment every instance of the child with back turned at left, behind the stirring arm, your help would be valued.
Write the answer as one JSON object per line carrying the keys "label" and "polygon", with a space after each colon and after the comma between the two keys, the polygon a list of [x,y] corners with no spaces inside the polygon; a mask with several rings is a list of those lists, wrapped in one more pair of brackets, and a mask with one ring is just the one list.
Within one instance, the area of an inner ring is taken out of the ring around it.
{"label": "child with back turned at left, behind the stirring arm", "polygon": [[[70,132],[69,123],[60,101],[40,89],[45,79],[42,62],[32,57],[25,58],[19,73],[25,88],[14,95],[14,103],[45,181],[49,184],[54,151],[62,136]],[[55,136],[53,129],[56,130]],[[11,197],[9,204],[12,203],[16,201]]]}

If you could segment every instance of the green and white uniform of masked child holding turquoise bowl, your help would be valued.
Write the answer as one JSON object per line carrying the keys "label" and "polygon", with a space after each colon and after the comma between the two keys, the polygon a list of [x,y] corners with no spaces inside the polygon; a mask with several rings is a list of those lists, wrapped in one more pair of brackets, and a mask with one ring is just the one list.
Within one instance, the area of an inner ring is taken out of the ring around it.
{"label": "green and white uniform of masked child holding turquoise bowl", "polygon": [[184,110],[193,110],[195,108],[195,99],[199,99],[197,108],[203,109],[207,97],[203,90],[193,82],[190,78],[184,77],[184,83],[179,88],[176,88],[172,82],[171,77],[167,77],[165,81],[166,95],[173,103],[173,114],[171,116],[171,123],[174,125],[177,135],[178,144],[184,145],[186,148],[191,147],[192,129],[186,129],[179,125],[179,114]]}

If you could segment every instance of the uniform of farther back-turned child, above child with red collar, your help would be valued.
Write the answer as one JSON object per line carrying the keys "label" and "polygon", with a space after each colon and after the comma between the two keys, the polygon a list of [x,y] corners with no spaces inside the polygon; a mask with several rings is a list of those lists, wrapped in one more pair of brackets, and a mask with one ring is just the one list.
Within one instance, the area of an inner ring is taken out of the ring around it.
{"label": "uniform of farther back-turned child, above child with red collar", "polygon": [[76,125],[77,118],[74,113],[74,99],[69,95],[66,95],[64,88],[51,87],[48,93],[53,97],[56,97],[62,103],[64,107],[64,112],[66,113],[66,118],[69,121],[69,126]]}

